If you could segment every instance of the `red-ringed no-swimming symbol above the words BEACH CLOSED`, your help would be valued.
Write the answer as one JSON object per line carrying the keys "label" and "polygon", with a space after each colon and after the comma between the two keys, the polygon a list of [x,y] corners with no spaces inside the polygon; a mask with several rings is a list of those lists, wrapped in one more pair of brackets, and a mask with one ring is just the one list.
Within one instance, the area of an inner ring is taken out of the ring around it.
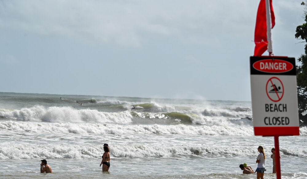
{"label": "red-ringed no-swimming symbol above the words BEACH CLOSED", "polygon": [[266,94],[271,101],[278,102],[284,96],[284,85],[277,77],[272,77],[266,82]]}

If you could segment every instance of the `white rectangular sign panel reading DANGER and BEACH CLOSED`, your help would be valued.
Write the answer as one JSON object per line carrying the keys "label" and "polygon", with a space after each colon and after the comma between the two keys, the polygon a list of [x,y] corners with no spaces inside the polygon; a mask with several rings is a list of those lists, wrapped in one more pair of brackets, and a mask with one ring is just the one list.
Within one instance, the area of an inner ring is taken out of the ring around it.
{"label": "white rectangular sign panel reading DANGER and BEACH CLOSED", "polygon": [[250,57],[255,135],[299,135],[295,59]]}

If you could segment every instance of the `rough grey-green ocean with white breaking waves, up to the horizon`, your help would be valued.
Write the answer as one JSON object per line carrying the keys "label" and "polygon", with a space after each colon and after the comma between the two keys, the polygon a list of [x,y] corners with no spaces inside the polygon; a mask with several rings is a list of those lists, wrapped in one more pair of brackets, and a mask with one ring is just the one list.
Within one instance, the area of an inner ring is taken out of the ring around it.
{"label": "rough grey-green ocean with white breaking waves, up to the horizon", "polygon": [[[256,170],[259,145],[264,177],[276,178],[274,138],[255,136],[250,118],[250,101],[0,93],[0,179],[249,179],[239,165]],[[307,178],[307,128],[279,145],[282,178]],[[42,159],[53,173],[40,173]]]}

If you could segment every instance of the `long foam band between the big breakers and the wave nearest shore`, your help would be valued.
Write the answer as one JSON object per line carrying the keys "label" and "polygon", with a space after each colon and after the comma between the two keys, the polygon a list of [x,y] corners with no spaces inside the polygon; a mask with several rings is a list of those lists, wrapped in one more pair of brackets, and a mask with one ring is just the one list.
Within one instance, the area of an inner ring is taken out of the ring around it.
{"label": "long foam band between the big breakers and the wave nearest shore", "polygon": [[192,125],[119,125],[94,123],[0,122],[0,131],[51,132],[75,134],[179,134],[179,135],[253,135],[252,127]]}

